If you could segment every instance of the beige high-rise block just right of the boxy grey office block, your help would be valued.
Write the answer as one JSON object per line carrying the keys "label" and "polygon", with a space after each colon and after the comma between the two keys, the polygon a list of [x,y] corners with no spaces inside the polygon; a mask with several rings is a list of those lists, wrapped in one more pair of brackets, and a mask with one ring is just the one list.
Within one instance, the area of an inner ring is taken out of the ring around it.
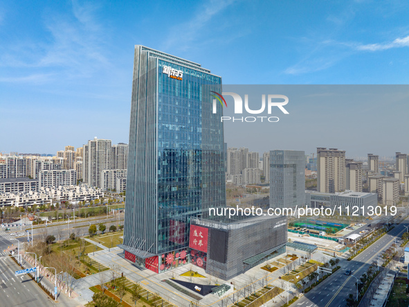
{"label": "beige high-rise block just right of the boxy grey office block", "polygon": [[317,175],[319,192],[345,191],[345,150],[317,148]]}

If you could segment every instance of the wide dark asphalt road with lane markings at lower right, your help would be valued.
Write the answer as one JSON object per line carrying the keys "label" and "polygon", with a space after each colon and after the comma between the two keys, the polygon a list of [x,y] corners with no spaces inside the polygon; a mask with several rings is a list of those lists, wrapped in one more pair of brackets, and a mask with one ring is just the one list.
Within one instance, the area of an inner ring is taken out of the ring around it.
{"label": "wide dark asphalt road with lane markings at lower right", "polygon": [[[343,307],[350,293],[356,297],[356,277],[358,280],[370,267],[371,263],[377,261],[378,254],[394,243],[394,238],[400,237],[406,231],[408,220],[404,220],[399,225],[394,225],[394,229],[385,234],[382,238],[365,249],[364,252],[356,256],[352,261],[342,259],[338,265],[341,269],[331,274],[330,277],[322,281],[319,286],[313,288],[305,296],[301,297],[291,306],[297,307]],[[353,276],[345,275],[345,270],[352,270]]]}

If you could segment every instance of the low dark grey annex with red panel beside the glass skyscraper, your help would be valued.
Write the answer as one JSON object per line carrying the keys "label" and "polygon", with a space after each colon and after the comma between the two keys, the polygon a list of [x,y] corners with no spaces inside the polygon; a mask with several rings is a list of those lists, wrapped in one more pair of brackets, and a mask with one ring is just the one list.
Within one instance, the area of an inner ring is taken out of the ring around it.
{"label": "low dark grey annex with red panel beside the glass skyscraper", "polygon": [[[231,222],[192,218],[191,222],[191,229],[196,227],[198,232],[208,234],[206,254],[201,255],[206,263],[199,266],[205,267],[208,274],[220,279],[231,279],[286,252],[285,216],[263,216]],[[190,247],[194,251],[192,238]],[[197,264],[199,258],[194,257],[195,252],[191,254],[192,262]]]}

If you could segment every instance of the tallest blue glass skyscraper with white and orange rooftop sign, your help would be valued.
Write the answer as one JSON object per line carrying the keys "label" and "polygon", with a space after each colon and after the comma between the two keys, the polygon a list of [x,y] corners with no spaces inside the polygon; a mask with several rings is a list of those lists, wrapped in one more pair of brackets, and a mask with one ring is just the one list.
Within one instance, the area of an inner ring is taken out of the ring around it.
{"label": "tallest blue glass skyscraper with white and orange rooftop sign", "polygon": [[135,47],[120,246],[154,272],[164,253],[185,253],[190,218],[226,206],[222,109],[212,113],[210,91],[221,93],[221,78],[200,64]]}

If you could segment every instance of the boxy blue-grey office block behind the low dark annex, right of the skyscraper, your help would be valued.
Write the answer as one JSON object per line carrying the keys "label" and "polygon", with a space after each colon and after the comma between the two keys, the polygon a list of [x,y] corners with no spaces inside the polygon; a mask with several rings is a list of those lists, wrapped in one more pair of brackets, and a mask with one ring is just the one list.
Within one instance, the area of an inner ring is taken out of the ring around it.
{"label": "boxy blue-grey office block behind the low dark annex, right of the skyscraper", "polygon": [[270,151],[270,207],[293,208],[305,205],[305,152]]}

